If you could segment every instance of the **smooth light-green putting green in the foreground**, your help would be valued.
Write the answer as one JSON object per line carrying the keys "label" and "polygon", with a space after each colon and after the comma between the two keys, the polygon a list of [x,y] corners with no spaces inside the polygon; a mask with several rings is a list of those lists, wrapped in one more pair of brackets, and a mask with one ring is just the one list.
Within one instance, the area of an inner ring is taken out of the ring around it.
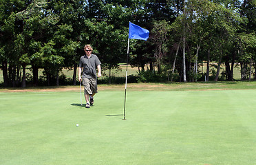
{"label": "smooth light-green putting green in the foreground", "polygon": [[255,98],[128,89],[122,120],[124,91],[99,91],[90,109],[80,91],[0,93],[0,164],[255,164]]}

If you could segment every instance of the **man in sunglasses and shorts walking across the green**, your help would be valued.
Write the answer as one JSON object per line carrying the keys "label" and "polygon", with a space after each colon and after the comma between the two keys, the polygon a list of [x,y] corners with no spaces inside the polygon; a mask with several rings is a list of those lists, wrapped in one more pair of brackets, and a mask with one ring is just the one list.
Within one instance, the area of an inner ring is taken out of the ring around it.
{"label": "man in sunglasses and shorts walking across the green", "polygon": [[[101,76],[100,61],[95,54],[92,54],[92,46],[85,45],[84,47],[85,55],[81,56],[80,63],[78,67],[78,78],[79,81],[83,80],[83,86],[85,87],[85,100],[86,108],[94,104],[94,95],[98,92],[97,90],[97,74],[96,69],[98,69],[98,77]],[[83,73],[82,73],[83,68]],[[81,77],[82,74],[82,77]]]}

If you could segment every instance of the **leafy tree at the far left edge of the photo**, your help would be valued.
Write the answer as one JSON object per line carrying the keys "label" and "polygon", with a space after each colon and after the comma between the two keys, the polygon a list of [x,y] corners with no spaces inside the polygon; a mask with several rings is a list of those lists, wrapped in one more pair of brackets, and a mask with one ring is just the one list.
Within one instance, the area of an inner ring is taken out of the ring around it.
{"label": "leafy tree at the far left edge of the photo", "polygon": [[[17,13],[23,10],[23,1],[3,0],[0,4],[0,61],[3,66],[4,85],[16,87],[19,85],[23,36],[23,23],[17,19]],[[17,51],[15,51],[17,50]]]}

